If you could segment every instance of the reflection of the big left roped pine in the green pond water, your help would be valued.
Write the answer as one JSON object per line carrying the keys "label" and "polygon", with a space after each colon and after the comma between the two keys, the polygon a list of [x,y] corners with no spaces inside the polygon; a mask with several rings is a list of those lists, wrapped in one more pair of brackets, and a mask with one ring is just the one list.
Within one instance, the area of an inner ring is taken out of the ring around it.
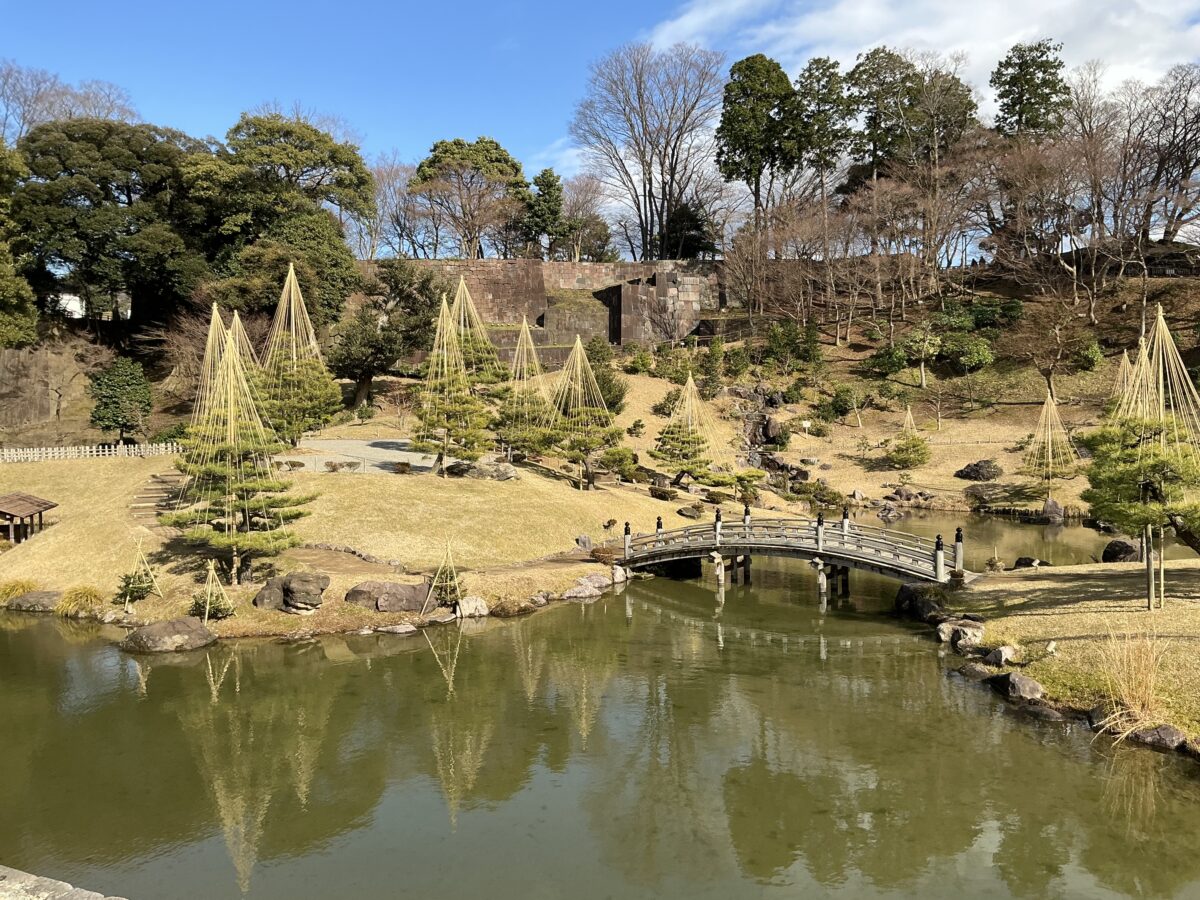
{"label": "reflection of the big left roped pine in the green pond water", "polygon": [[278,671],[244,685],[241,660],[234,659],[240,653],[240,646],[210,649],[209,690],[182,692],[176,714],[246,893],[271,804],[289,787],[307,804],[341,679],[328,667],[301,691]]}

